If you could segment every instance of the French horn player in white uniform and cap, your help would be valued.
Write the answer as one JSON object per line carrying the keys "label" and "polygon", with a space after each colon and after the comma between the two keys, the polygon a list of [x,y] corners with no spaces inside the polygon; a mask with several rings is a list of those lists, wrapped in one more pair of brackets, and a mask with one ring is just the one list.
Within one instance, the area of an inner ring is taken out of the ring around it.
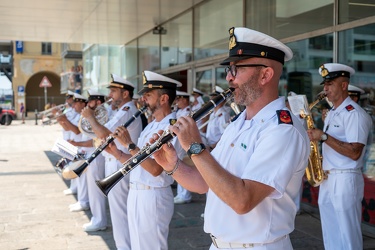
{"label": "French horn player in white uniform and cap", "polygon": [[[90,108],[91,110],[96,110],[100,105],[104,105],[104,94],[101,94],[94,89],[89,89],[87,92],[87,108]],[[94,142],[92,139],[95,135],[88,134],[88,132],[84,133],[84,131],[85,130],[81,131],[83,133],[82,141],[71,141],[71,144],[77,147],[83,147],[83,149],[86,150],[87,159],[92,155],[92,153],[96,149],[94,147]],[[100,231],[105,230],[107,228],[106,198],[95,183],[96,180],[101,180],[104,178],[104,170],[104,157],[102,154],[97,155],[96,158],[89,164],[89,166],[87,166],[87,190],[89,195],[90,210],[92,216],[90,222],[85,223],[83,225],[83,229],[86,232]]]}

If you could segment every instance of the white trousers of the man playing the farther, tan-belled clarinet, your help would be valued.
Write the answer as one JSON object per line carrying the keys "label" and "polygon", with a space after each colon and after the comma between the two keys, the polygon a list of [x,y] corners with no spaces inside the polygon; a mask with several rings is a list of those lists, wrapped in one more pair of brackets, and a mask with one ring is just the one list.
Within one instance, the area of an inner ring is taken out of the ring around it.
{"label": "white trousers of the man playing the farther, tan-belled clarinet", "polygon": [[[122,167],[114,157],[105,157],[105,175],[108,176]],[[121,179],[108,193],[113,238],[118,250],[130,250],[127,200],[129,193],[129,175]]]}

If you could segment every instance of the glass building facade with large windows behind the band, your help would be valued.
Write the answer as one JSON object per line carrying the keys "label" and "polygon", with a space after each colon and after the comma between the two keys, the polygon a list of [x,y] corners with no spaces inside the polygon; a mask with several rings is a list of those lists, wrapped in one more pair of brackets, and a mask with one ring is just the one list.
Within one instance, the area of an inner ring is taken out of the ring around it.
{"label": "glass building facade with large windows behind the band", "polygon": [[[225,89],[228,84],[220,62],[228,53],[228,29],[240,26],[271,35],[293,50],[294,57],[285,64],[280,79],[280,95],[293,91],[312,102],[322,91],[318,67],[327,62],[343,63],[356,70],[351,84],[366,91],[361,104],[374,116],[373,0],[202,1],[123,46],[86,46],[84,88],[104,89],[110,73],[115,73],[140,89],[142,71],[151,70],[181,81],[184,91],[196,87],[208,94],[215,85]],[[375,176],[373,151],[371,139],[364,169],[367,183]],[[365,192],[372,202],[373,192]],[[375,211],[364,221],[375,225]]]}

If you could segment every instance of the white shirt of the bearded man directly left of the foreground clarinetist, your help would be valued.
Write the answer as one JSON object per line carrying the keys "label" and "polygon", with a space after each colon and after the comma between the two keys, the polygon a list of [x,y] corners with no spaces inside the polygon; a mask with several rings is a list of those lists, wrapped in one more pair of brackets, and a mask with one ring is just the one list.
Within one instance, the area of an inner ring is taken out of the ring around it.
{"label": "white shirt of the bearded man directly left of the foreground clarinetist", "polygon": [[[142,149],[146,143],[149,143],[149,140],[154,133],[157,133],[159,130],[166,130],[170,125],[171,119],[176,119],[175,112],[170,113],[160,122],[153,120],[151,123],[149,123],[142,131],[138,139],[138,147]],[[175,147],[178,157],[182,159],[186,152],[182,149],[177,137],[174,138],[171,143]],[[152,158],[152,156],[150,157]],[[130,172],[130,182],[141,183],[151,187],[167,187],[173,183],[173,178],[165,174],[164,171],[159,176],[154,177],[141,166],[137,166]]]}

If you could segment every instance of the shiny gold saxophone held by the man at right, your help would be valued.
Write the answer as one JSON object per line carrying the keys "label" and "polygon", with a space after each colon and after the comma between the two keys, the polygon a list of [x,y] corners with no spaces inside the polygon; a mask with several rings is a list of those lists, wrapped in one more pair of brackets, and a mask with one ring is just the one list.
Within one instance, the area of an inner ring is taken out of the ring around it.
{"label": "shiny gold saxophone held by the man at right", "polygon": [[[309,114],[301,111],[300,115],[306,120],[307,129],[313,129],[315,127],[314,120],[311,115],[311,109],[325,97],[326,94],[324,93],[318,95],[317,99],[309,105]],[[325,179],[327,179],[327,174],[323,170],[322,156],[320,155],[317,141],[310,141],[310,156],[306,168],[306,178],[310,185],[313,187],[319,186]]]}

